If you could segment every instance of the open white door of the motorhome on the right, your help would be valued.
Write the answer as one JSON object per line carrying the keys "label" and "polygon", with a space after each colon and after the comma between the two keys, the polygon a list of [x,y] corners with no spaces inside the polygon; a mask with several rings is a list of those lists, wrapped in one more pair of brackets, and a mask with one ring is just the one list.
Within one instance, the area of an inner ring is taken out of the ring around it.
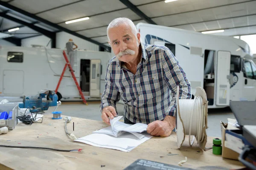
{"label": "open white door of the motorhome on the right", "polygon": [[218,51],[216,75],[216,105],[226,106],[230,102],[230,57],[229,51]]}

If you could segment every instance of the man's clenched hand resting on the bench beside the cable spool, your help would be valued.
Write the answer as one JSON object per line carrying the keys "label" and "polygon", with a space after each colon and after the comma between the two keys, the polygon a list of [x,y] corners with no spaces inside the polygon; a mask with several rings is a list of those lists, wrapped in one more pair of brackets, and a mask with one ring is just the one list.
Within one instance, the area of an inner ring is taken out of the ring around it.
{"label": "man's clenched hand resting on the bench beside the cable spool", "polygon": [[170,136],[176,126],[176,118],[167,115],[163,121],[156,120],[148,124],[147,132],[152,136]]}

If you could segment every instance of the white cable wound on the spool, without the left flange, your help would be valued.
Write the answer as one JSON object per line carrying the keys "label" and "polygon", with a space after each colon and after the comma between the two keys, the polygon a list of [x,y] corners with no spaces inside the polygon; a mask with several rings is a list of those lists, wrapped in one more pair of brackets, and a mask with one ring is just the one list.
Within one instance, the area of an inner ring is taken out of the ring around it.
{"label": "white cable wound on the spool, without the left flange", "polygon": [[[183,120],[185,135],[189,135],[189,145],[192,146],[194,139],[197,142],[203,142],[204,134],[204,106],[201,96],[195,96],[195,99],[179,99],[180,115]],[[191,142],[190,136],[194,138]]]}

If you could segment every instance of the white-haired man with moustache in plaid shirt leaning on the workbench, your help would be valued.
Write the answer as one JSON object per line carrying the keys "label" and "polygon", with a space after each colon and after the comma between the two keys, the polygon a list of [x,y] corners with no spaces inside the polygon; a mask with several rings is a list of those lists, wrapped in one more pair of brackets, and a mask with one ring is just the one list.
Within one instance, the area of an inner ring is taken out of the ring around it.
{"label": "white-haired man with moustache in plaid shirt leaning on the workbench", "polygon": [[169,136],[175,128],[177,86],[180,99],[190,99],[190,83],[177,59],[165,46],[140,42],[128,18],[116,18],[107,28],[114,54],[108,63],[102,95],[102,120],[116,116],[116,102],[124,102],[125,123],[148,124],[152,136]]}

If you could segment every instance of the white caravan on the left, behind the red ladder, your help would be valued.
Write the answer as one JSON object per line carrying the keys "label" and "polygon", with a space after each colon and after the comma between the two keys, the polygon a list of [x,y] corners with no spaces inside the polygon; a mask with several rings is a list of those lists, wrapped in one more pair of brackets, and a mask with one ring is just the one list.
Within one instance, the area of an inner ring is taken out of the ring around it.
{"label": "white caravan on the left, behind the red ladder", "polygon": [[[100,99],[111,53],[75,53],[73,70],[85,99]],[[0,97],[3,99],[7,96],[7,99],[14,101],[15,96],[35,95],[42,89],[55,91],[65,63],[61,49],[0,46]],[[61,100],[81,99],[69,68],[66,69],[57,95]]]}

